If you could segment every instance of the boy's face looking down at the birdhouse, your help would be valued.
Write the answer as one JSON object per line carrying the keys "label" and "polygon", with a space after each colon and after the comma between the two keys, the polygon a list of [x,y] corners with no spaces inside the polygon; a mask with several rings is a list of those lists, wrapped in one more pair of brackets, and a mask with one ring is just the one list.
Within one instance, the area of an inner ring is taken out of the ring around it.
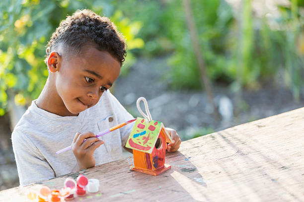
{"label": "boy's face looking down at the birdhouse", "polygon": [[57,69],[57,93],[73,115],[99,101],[119,76],[120,63],[107,51],[88,47],[79,55],[63,55]]}

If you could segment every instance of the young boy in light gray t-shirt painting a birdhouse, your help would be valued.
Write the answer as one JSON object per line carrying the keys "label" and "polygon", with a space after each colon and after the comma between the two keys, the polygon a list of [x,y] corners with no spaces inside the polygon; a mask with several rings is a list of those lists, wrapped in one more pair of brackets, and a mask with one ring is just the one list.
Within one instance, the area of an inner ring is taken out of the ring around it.
{"label": "young boy in light gray t-shirt painting a birdhouse", "polygon": [[[46,53],[47,82],[12,133],[21,186],[121,158],[133,127],[95,137],[133,119],[108,91],[126,55],[125,41],[108,18],[77,11],[60,23]],[[175,140],[167,150],[175,152],[179,136],[166,130]],[[55,154],[71,144],[72,151]]]}

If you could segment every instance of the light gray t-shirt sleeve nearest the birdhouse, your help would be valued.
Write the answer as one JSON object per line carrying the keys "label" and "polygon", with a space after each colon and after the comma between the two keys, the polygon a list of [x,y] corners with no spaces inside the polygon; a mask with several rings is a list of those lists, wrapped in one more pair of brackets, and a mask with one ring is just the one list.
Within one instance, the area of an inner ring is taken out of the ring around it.
{"label": "light gray t-shirt sleeve nearest the birdhouse", "polygon": [[[121,105],[121,103],[110,92],[108,93],[109,93],[109,97],[111,98],[111,103],[114,109],[114,113],[117,116],[118,123],[123,123],[131,119],[134,119],[134,117],[125,109],[125,107],[123,107],[123,105]],[[126,145],[133,126],[134,126],[134,122],[119,129],[122,147]]]}

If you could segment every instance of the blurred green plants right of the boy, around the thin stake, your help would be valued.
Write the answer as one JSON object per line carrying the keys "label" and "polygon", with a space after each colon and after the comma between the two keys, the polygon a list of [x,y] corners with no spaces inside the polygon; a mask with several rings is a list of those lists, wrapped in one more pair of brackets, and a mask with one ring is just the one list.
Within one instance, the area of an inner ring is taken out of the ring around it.
{"label": "blurred green plants right of the boy, around the thin stake", "polygon": [[[242,87],[256,90],[283,70],[287,86],[298,99],[303,87],[303,1],[292,0],[291,6],[279,6],[278,15],[272,17],[267,13],[256,15],[250,0],[240,2],[242,8],[238,10],[226,0],[191,0],[208,76],[214,82],[231,85],[234,91]],[[138,36],[146,44],[143,51],[135,53],[170,54],[171,70],[164,79],[171,87],[201,88],[182,0],[124,3],[124,16],[143,24]]]}

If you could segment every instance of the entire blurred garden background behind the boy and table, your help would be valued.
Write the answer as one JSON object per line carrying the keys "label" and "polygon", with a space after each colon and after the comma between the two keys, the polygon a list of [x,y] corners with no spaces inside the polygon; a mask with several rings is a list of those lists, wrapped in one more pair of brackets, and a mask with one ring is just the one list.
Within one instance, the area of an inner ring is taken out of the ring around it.
{"label": "entire blurred garden background behind the boy and table", "polygon": [[128,54],[111,89],[183,141],[304,106],[304,0],[1,0],[0,190],[18,186],[10,135],[48,76],[61,20],[109,17]]}

